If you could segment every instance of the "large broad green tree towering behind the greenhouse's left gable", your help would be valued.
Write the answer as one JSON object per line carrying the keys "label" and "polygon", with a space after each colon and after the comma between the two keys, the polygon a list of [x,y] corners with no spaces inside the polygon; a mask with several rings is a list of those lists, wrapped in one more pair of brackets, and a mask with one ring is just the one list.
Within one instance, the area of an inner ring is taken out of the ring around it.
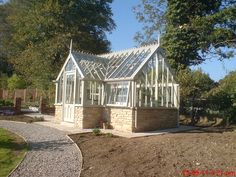
{"label": "large broad green tree towering behind the greenhouse's left gable", "polygon": [[105,31],[111,32],[112,0],[12,0],[10,61],[16,73],[43,90],[61,68],[70,40],[73,48],[92,53],[110,50]]}

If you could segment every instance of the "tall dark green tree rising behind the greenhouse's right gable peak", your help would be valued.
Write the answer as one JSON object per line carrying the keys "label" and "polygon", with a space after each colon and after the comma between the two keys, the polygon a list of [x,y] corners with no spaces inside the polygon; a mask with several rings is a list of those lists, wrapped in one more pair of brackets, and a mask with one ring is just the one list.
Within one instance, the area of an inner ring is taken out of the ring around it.
{"label": "tall dark green tree rising behind the greenhouse's right gable peak", "polygon": [[[202,63],[207,57],[230,58],[236,47],[235,0],[142,0],[135,8],[146,24],[138,42],[163,34],[166,56],[176,69]],[[147,36],[147,37],[144,37]]]}

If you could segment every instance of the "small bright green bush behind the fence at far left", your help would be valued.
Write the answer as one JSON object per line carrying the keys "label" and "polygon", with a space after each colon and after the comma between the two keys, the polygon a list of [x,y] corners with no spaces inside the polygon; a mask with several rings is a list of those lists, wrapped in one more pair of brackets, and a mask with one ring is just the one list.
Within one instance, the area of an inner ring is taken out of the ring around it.
{"label": "small bright green bush behind the fence at far left", "polygon": [[24,89],[26,88],[26,82],[17,76],[16,74],[13,74],[8,80],[7,80],[7,88],[10,90],[14,89]]}

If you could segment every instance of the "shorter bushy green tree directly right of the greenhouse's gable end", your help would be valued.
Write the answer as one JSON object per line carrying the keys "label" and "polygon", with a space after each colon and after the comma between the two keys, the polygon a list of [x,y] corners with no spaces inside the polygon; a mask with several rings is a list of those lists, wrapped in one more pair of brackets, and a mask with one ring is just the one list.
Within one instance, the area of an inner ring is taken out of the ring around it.
{"label": "shorter bushy green tree directly right of the greenhouse's gable end", "polygon": [[209,75],[203,73],[200,69],[191,71],[190,69],[180,70],[178,73],[180,84],[180,112],[191,112],[192,124],[195,123],[195,108],[202,105],[207,98],[207,93],[215,86],[215,82]]}

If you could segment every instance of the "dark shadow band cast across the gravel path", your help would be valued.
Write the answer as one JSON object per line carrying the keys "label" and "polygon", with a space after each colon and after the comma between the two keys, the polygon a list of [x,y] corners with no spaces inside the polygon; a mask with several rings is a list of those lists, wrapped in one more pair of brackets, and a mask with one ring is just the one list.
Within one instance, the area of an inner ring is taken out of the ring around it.
{"label": "dark shadow band cast across the gravel path", "polygon": [[64,151],[65,147],[72,146],[73,143],[67,140],[53,140],[53,141],[41,141],[30,142],[29,150],[31,151]]}

